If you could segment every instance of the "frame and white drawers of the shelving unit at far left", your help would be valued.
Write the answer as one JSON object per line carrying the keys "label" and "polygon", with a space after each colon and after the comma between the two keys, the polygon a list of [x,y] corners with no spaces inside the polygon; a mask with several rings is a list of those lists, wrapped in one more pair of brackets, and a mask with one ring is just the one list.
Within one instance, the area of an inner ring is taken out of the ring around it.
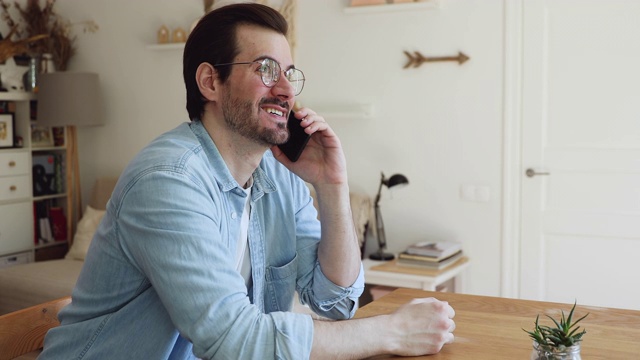
{"label": "frame and white drawers of the shelving unit at far left", "polygon": [[61,140],[58,146],[38,147],[33,144],[31,107],[35,100],[32,93],[0,92],[0,102],[10,104],[7,112],[14,115],[14,136],[22,139],[21,147],[0,148],[0,267],[62,257],[71,236],[67,232],[65,237],[56,241],[45,244],[35,241],[39,225],[36,208],[59,207],[66,216],[70,206],[68,183],[63,173],[59,173],[58,181],[61,182],[57,183],[59,186],[54,193],[47,191],[37,196],[33,193],[33,165],[38,157],[57,158],[59,168],[64,169],[62,163],[68,155],[66,128],[58,134]]}

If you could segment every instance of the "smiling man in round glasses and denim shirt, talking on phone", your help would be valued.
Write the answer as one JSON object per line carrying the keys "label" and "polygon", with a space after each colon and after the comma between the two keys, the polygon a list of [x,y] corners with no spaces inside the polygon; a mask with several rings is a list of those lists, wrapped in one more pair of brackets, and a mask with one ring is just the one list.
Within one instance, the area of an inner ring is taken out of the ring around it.
{"label": "smiling man in round glasses and denim shirt, talking on phone", "polygon": [[192,121],[121,175],[41,359],[361,358],[453,341],[453,309],[435,299],[363,320],[289,312],[297,291],[318,314],[350,318],[364,279],[336,134],[303,108],[312,138],[300,159],[277,147],[304,85],[286,31],[256,4],[195,27],[184,50]]}

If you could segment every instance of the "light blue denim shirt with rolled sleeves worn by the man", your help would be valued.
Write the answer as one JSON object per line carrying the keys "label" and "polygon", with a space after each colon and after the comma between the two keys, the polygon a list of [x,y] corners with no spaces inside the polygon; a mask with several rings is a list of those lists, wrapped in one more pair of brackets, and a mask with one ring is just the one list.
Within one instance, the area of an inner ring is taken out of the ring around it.
{"label": "light blue denim shirt with rolled sleeves worn by the man", "polygon": [[301,302],[346,319],[364,289],[341,287],[317,259],[309,190],[270,151],[253,173],[252,286],[235,270],[247,194],[200,121],[144,148],[121,175],[72,303],[40,359],[306,359],[313,321]]}

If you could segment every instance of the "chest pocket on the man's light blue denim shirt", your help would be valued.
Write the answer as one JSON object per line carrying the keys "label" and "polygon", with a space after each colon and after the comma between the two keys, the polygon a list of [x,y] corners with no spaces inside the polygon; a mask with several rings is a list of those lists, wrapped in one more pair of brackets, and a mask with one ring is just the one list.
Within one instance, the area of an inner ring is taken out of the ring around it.
{"label": "chest pocket on the man's light blue denim shirt", "polygon": [[272,311],[291,311],[293,295],[296,291],[298,274],[298,256],[282,266],[269,266],[266,269],[266,309]]}

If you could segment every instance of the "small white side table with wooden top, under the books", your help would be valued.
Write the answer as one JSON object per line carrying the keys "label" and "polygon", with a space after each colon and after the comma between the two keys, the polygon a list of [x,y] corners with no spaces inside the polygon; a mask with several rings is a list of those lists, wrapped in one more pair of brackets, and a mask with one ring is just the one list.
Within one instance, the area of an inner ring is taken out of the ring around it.
{"label": "small white side table with wooden top, under the books", "polygon": [[367,284],[436,291],[437,286],[452,280],[456,293],[464,292],[460,277],[469,265],[470,260],[466,256],[442,270],[398,266],[396,260],[362,260]]}

